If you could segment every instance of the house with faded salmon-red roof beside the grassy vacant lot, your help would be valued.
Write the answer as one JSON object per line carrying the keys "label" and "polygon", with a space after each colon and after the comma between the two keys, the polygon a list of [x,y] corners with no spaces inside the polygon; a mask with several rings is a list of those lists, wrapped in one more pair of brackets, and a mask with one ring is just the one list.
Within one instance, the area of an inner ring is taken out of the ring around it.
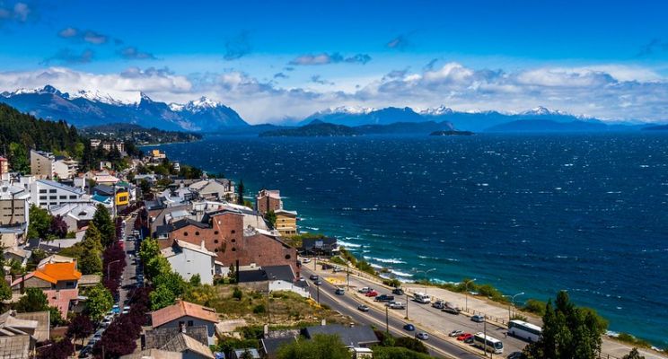
{"label": "house with faded salmon-red roof beside the grassy vacant lot", "polygon": [[178,300],[169,307],[151,312],[151,320],[153,328],[180,328],[183,333],[188,333],[189,327],[206,326],[208,344],[215,344],[218,314],[213,308]]}

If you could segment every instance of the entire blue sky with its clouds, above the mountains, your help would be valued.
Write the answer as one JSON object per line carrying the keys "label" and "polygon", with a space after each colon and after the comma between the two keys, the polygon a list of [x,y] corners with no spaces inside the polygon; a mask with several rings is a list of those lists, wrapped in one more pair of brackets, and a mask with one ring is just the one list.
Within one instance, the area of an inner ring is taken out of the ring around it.
{"label": "entire blue sky with its clouds, above the mountains", "polygon": [[656,1],[0,0],[0,91],[51,83],[129,99],[206,95],[255,123],[439,105],[663,121],[667,10]]}

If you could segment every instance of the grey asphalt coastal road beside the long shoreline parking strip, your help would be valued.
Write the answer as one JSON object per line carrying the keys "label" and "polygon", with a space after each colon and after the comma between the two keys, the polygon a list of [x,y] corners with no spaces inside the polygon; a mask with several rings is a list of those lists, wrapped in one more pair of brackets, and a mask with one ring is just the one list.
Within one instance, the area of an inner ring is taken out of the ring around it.
{"label": "grey asphalt coastal road beside the long shoreline parking strip", "polygon": [[[313,274],[313,271],[309,268],[302,267],[303,276],[309,277]],[[345,295],[337,295],[334,293],[336,286],[331,285],[327,281],[323,281],[320,285],[320,294],[318,294],[318,286],[310,284],[310,291],[312,298],[318,300],[320,297],[320,302],[322,304],[327,304],[334,311],[338,311],[341,314],[347,315],[357,323],[364,325],[373,325],[375,328],[383,329],[386,324],[385,311],[381,311],[377,308],[371,307],[370,311],[363,312],[358,311],[357,306],[363,302],[359,301],[355,296],[350,295],[351,293],[347,292]],[[389,310],[394,311],[394,310]],[[388,315],[387,317],[390,332],[395,337],[413,337],[416,332],[424,331],[429,334],[429,339],[424,343],[429,348],[430,355],[444,357],[444,358],[463,358],[463,359],[479,359],[481,355],[474,355],[469,351],[457,346],[440,336],[436,336],[435,333],[426,330],[425,328],[420,328],[416,325],[415,332],[409,332],[403,329],[403,326],[409,322],[405,320],[400,320],[393,315]],[[411,322],[411,324],[414,324]]]}

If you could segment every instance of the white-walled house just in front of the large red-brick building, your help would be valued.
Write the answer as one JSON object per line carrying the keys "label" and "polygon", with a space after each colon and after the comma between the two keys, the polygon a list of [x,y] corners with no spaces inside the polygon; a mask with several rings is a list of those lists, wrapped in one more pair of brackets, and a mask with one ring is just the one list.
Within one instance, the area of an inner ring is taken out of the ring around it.
{"label": "white-walled house just in front of the large red-brick building", "polygon": [[171,269],[185,280],[199,275],[205,285],[214,284],[215,258],[214,252],[201,245],[175,240],[171,247],[161,250],[164,258],[171,264]]}

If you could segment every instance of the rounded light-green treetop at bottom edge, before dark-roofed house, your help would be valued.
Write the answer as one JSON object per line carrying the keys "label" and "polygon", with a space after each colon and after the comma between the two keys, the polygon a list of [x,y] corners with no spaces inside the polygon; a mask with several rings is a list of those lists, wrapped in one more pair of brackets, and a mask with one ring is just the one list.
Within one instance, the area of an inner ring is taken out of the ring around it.
{"label": "rounded light-green treetop at bottom edge, before dark-roofed house", "polygon": [[278,359],[350,359],[350,352],[337,335],[300,338],[278,349]]}

